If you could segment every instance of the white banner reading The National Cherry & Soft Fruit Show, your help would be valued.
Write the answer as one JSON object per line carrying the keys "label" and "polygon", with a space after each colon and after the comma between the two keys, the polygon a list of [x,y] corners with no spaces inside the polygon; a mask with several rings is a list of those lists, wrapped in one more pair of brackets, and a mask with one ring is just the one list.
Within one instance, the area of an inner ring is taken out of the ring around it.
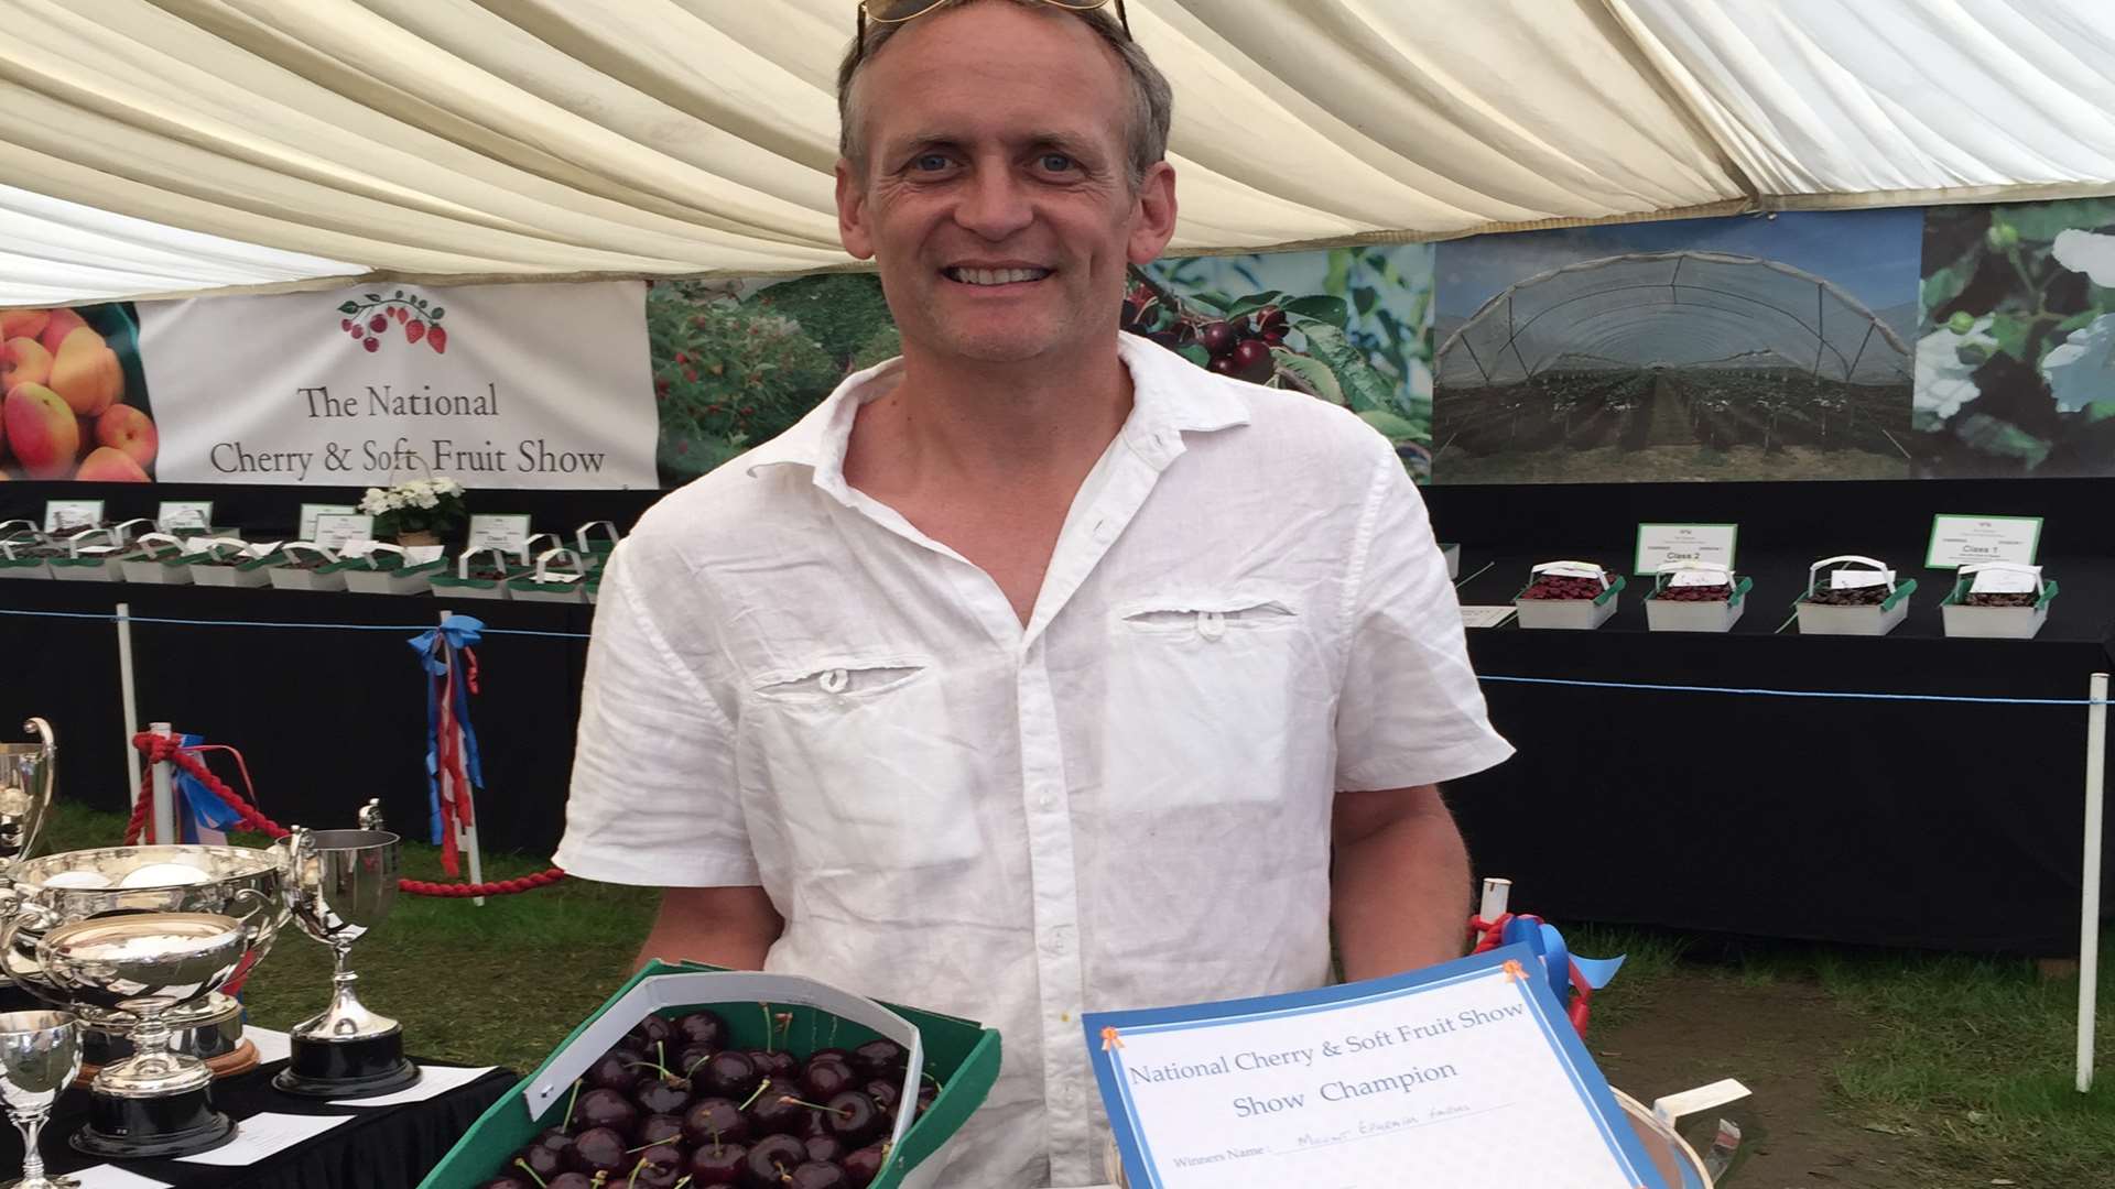
{"label": "white banner reading The National Cherry & Soft Fruit Show", "polygon": [[656,487],[643,281],[140,303],[157,478]]}

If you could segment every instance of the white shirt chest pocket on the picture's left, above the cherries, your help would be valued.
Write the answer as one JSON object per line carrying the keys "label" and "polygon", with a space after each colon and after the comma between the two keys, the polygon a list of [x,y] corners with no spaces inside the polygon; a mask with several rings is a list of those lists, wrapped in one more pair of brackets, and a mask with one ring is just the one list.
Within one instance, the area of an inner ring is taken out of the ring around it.
{"label": "white shirt chest pocket on the picture's left, above the cherries", "polygon": [[753,762],[808,876],[960,863],[979,850],[975,755],[922,656],[821,658],[751,690]]}

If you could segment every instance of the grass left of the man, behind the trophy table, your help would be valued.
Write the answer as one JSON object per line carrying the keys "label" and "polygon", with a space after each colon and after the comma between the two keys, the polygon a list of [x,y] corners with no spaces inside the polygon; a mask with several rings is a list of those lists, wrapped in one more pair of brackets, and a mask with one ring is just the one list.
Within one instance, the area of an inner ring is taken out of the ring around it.
{"label": "grass left of the man, behind the trophy table", "polygon": [[[112,846],[123,836],[121,815],[61,806],[38,853]],[[484,855],[484,878],[546,865],[525,855]],[[448,880],[440,848],[406,842],[404,876]],[[412,1056],[529,1073],[630,977],[658,899],[649,889],[588,880],[489,897],[484,906],[400,895],[389,920],[353,946],[360,999],[404,1022]],[[328,999],[330,950],[292,922],[243,988],[250,1022],[279,1030],[321,1011]]]}

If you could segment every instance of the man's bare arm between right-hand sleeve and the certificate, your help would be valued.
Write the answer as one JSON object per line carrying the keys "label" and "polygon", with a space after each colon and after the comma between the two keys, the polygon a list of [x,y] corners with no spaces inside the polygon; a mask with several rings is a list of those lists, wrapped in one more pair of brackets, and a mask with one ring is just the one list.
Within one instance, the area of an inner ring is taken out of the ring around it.
{"label": "man's bare arm between right-hand sleeve and the certificate", "polygon": [[1351,982],[1459,958],[1468,848],[1438,785],[1337,793],[1330,920]]}

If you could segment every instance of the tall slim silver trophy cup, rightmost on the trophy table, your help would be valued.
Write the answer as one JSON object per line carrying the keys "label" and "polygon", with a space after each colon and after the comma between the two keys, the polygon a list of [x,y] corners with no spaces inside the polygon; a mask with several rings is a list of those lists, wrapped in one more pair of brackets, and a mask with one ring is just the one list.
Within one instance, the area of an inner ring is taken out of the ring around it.
{"label": "tall slim silver trophy cup, rightmost on the trophy table", "polygon": [[396,906],[402,840],[387,829],[296,829],[277,846],[292,855],[294,925],[330,946],[336,971],[330,1007],[294,1026],[292,1060],[273,1085],[311,1098],[368,1098],[419,1081],[419,1066],[404,1060],[404,1026],[360,1003],[360,975],[347,965],[353,941]]}

